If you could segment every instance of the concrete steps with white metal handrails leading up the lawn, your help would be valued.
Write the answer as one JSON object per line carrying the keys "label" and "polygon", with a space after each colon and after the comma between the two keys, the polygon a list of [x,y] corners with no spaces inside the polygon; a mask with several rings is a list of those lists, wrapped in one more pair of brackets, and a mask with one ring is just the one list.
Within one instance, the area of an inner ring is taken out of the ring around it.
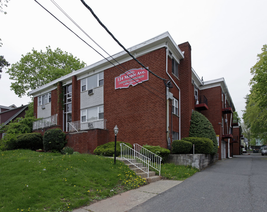
{"label": "concrete steps with white metal handrails leading up the lawn", "polygon": [[161,180],[161,176],[155,175],[155,171],[149,171],[149,168],[153,168],[158,170],[160,174],[161,157],[138,144],[134,144],[135,149],[128,147],[124,143],[120,143],[120,146],[121,158],[117,158],[117,160],[124,162],[137,175],[145,178],[148,183]]}

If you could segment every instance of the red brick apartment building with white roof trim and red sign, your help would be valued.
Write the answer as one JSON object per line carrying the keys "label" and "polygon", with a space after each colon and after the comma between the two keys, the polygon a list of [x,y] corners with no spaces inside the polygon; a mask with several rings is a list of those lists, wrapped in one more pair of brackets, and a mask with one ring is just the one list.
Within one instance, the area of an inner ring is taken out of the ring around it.
{"label": "red brick apartment building with white roof trim and red sign", "polygon": [[[204,82],[191,67],[191,46],[177,45],[165,32],[128,49],[145,67],[122,51],[30,91],[34,132],[51,128],[66,133],[68,146],[93,153],[118,141],[171,148],[189,136],[191,113],[201,112],[218,135],[221,158],[232,155],[232,103],[224,78]],[[116,59],[116,62],[115,62]],[[120,65],[118,64],[120,63]],[[171,85],[173,86],[171,86]]]}

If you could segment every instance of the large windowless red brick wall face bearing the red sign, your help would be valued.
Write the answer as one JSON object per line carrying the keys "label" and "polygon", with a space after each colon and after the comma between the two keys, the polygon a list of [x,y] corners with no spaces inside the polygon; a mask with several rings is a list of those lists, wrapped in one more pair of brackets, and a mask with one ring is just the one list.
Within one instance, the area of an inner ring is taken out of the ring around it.
{"label": "large windowless red brick wall face bearing the red sign", "polygon": [[[154,73],[168,79],[165,48],[140,56],[138,60]],[[122,65],[127,70],[140,68],[134,60]],[[104,72],[104,118],[107,119],[109,141],[114,141],[113,128],[117,125],[118,141],[167,148],[166,87],[163,81],[149,73],[149,80],[142,84],[114,90],[114,78],[120,74],[122,72],[116,67]]]}

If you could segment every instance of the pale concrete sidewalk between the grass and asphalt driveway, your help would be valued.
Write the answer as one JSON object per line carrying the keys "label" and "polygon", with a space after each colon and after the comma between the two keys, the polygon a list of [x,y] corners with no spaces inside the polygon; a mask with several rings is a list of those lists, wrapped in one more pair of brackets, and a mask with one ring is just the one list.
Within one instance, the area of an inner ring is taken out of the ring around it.
{"label": "pale concrete sidewalk between the grass and asphalt driveway", "polygon": [[159,180],[140,188],[73,210],[73,212],[125,212],[183,181]]}

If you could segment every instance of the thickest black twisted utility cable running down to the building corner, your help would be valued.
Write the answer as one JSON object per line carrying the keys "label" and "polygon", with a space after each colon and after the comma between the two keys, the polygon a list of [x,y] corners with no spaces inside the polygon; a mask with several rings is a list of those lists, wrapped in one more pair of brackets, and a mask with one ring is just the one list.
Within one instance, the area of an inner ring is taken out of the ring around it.
{"label": "thickest black twisted utility cable running down to the building corner", "polygon": [[91,12],[91,14],[95,17],[95,19],[98,21],[98,23],[109,33],[109,35],[117,42],[117,44],[119,44],[120,47],[122,47],[122,49],[127,52],[138,64],[140,64],[143,68],[145,68],[148,72],[150,72],[151,74],[153,74],[155,77],[158,77],[160,80],[165,80],[162,77],[158,76],[157,74],[153,73],[152,71],[150,71],[147,67],[145,67],[138,59],[136,59],[115,37],[114,35],[107,29],[107,27],[99,20],[99,18],[96,16],[96,14],[94,13],[94,11],[91,9],[91,7],[89,7],[83,0],[81,0],[81,2],[83,3],[83,5],[89,9],[89,11]]}

